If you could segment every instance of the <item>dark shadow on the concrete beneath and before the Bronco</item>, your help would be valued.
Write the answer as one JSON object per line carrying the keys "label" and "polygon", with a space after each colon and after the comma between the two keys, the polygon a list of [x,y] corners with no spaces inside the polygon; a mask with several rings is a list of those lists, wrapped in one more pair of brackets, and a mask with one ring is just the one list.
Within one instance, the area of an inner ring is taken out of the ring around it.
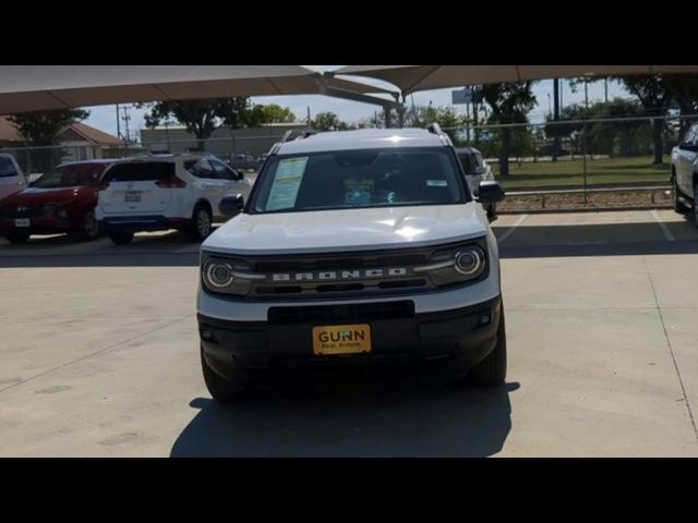
{"label": "dark shadow on the concrete beneath and before the Bronco", "polygon": [[276,386],[201,412],[174,441],[180,457],[488,457],[512,428],[510,382],[480,389],[438,381],[344,379],[314,390]]}

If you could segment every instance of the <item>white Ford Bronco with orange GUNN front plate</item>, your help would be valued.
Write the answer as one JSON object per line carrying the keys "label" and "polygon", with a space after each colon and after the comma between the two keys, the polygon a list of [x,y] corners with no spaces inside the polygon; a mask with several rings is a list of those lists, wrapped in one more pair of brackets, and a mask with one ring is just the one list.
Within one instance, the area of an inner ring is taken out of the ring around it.
{"label": "white Ford Bronco with orange GUNN front plate", "polygon": [[202,245],[197,293],[214,399],[285,366],[441,362],[504,382],[497,241],[437,125],[281,143],[246,204],[220,207],[237,216]]}

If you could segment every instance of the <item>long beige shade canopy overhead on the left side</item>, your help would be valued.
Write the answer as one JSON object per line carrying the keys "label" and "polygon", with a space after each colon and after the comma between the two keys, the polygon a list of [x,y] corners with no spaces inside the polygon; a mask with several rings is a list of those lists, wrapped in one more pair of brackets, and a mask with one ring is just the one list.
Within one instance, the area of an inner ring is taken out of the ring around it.
{"label": "long beige shade canopy overhead on the left side", "polygon": [[230,96],[314,95],[321,82],[389,93],[302,65],[0,65],[0,114],[65,107]]}

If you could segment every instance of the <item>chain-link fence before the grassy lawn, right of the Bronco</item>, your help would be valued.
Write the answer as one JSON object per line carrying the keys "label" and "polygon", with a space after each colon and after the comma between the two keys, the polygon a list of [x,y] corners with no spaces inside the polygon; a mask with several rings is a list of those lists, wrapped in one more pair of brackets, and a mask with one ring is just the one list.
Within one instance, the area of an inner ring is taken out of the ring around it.
{"label": "chain-link fence before the grassy lawn, right of the Bronco", "polygon": [[509,191],[666,185],[671,153],[698,115],[445,129]]}

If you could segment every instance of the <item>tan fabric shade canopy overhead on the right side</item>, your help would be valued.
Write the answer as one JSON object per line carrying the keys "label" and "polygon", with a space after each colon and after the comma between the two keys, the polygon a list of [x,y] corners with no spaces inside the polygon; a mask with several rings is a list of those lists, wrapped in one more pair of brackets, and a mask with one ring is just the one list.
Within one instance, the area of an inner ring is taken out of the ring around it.
{"label": "tan fabric shade canopy overhead on the right side", "polygon": [[657,73],[698,73],[698,65],[348,65],[334,71],[389,82],[404,95],[525,80]]}

